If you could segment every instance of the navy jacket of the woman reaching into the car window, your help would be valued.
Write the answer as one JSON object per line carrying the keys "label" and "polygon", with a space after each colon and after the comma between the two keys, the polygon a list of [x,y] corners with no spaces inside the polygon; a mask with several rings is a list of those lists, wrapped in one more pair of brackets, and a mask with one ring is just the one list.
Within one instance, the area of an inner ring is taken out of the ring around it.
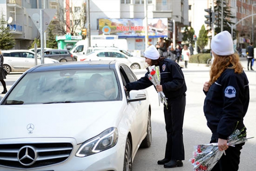
{"label": "navy jacket of the woman reaching into the car window", "polygon": [[[186,92],[184,75],[176,62],[170,59],[160,60],[159,67],[161,77],[160,85],[163,87],[163,93],[166,99],[175,98]],[[126,90],[129,92],[130,90],[146,89],[153,85],[148,79],[148,74],[149,72],[146,72],[145,76],[138,79],[136,82],[126,84]]]}

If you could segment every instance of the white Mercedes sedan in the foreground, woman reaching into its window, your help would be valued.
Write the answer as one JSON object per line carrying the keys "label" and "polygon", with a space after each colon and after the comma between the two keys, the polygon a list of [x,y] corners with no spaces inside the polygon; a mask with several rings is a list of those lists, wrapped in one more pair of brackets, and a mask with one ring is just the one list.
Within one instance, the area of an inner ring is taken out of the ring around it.
{"label": "white Mercedes sedan in the foreground, woman reaching into its window", "polygon": [[[99,75],[111,96],[93,89]],[[151,145],[147,92],[123,88],[136,80],[120,61],[27,70],[0,101],[0,170],[131,171]]]}

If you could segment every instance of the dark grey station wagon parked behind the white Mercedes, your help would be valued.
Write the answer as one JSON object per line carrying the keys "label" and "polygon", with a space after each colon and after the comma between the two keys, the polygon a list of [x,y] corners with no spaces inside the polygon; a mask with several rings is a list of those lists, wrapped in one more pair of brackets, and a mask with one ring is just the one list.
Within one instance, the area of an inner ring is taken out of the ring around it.
{"label": "dark grey station wagon parked behind the white Mercedes", "polygon": [[[38,53],[40,54],[40,53]],[[45,58],[51,58],[58,60],[59,62],[73,62],[73,54],[69,50],[65,49],[50,49],[44,51]]]}

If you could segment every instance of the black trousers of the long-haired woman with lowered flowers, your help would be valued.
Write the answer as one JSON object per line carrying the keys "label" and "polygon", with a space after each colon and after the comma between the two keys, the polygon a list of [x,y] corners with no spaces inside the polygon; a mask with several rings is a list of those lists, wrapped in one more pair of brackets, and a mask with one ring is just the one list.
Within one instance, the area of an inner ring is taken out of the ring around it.
{"label": "black trousers of the long-haired woman with lowered flowers", "polygon": [[[217,138],[212,137],[210,143],[218,142]],[[222,155],[211,171],[238,171],[240,163],[241,149],[245,143],[229,146],[225,151],[226,155]]]}

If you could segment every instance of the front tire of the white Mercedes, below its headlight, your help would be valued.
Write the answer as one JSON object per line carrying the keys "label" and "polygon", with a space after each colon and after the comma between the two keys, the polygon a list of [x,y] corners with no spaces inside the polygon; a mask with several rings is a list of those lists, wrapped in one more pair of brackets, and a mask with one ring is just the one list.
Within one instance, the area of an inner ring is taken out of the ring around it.
{"label": "front tire of the white Mercedes, below its headlight", "polygon": [[123,171],[132,171],[132,146],[131,146],[130,139],[128,137],[126,139],[126,145],[125,145]]}

